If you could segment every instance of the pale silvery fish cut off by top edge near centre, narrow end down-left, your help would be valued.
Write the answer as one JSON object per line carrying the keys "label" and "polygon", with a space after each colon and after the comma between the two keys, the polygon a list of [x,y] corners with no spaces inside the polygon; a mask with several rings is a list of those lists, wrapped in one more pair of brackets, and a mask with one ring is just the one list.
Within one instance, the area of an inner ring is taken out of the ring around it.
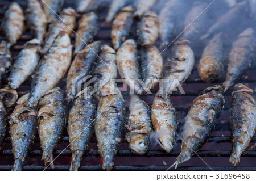
{"label": "pale silvery fish cut off by top edge near centre, narrow end down-left", "polygon": [[123,0],[123,1],[113,0],[111,6],[109,8],[108,15],[106,17],[106,22],[111,22],[114,19],[115,15],[117,15],[118,12],[123,7],[125,7],[128,3],[129,3],[129,0]]}

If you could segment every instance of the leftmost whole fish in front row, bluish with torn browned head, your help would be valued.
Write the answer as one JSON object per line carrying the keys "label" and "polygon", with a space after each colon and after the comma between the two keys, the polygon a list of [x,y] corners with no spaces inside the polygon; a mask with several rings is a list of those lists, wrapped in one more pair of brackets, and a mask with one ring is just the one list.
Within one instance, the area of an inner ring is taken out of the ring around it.
{"label": "leftmost whole fish in front row, bluish with torn browned head", "polygon": [[29,94],[26,94],[19,98],[10,116],[11,150],[14,155],[12,170],[14,171],[22,170],[22,165],[36,135],[36,110],[24,107],[28,96]]}

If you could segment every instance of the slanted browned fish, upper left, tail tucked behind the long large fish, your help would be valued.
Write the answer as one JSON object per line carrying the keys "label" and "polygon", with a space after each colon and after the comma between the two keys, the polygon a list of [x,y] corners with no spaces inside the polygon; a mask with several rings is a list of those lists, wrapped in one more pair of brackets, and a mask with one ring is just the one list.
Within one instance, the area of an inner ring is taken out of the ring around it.
{"label": "slanted browned fish, upper left, tail tucked behind the long large fish", "polygon": [[49,25],[48,31],[46,33],[46,39],[44,40],[44,45],[41,54],[48,52],[55,38],[59,35],[60,32],[71,34],[72,30],[76,26],[76,11],[71,7],[63,9],[60,14],[61,20],[58,22],[51,23]]}

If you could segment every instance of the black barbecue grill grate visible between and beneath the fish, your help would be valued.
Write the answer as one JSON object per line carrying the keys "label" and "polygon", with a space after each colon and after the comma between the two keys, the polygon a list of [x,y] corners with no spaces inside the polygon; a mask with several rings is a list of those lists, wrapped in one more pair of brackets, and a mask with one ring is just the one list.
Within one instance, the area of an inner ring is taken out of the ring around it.
{"label": "black barbecue grill grate visible between and beneath the fish", "polygon": [[[0,1],[0,21],[3,20],[3,14],[5,13],[7,7],[13,1],[2,0]],[[163,2],[163,1],[162,1]],[[26,9],[27,1],[18,1],[19,5],[22,6],[23,10]],[[209,1],[210,3],[210,1]],[[214,4],[215,3],[215,4]],[[219,10],[218,3],[214,2],[212,6],[209,7],[212,13],[212,19],[214,20],[221,13],[228,10],[228,7],[224,10]],[[64,7],[74,7],[73,1],[66,0]],[[158,6],[153,8],[153,11],[158,12],[160,7],[160,3]],[[217,10],[214,11],[214,9]],[[100,30],[98,31],[97,36],[94,40],[101,40],[104,44],[111,43],[110,40],[110,31],[111,24],[104,23],[105,15],[108,9],[102,10],[100,13],[97,13],[100,18]],[[210,12],[205,12],[210,13]],[[204,14],[202,14],[203,16]],[[240,23],[235,30],[231,33],[224,33],[224,49],[225,49],[225,58],[227,59],[228,53],[232,46],[232,41],[236,40],[238,33],[245,30],[246,27],[254,26],[255,22],[253,20],[247,19],[244,22]],[[75,30],[76,31],[76,30]],[[181,30],[182,31],[182,30]],[[136,39],[135,30],[132,33],[131,37]],[[0,32],[0,39],[4,39],[3,33]],[[23,48],[23,44],[26,41],[31,40],[32,36],[30,32],[26,31],[23,33],[22,37],[19,39],[18,43],[16,43],[11,48],[11,53],[13,59],[15,60],[17,54]],[[72,44],[75,40],[75,33],[71,34]],[[206,42],[193,42],[192,49],[195,53],[196,63],[193,68],[192,74],[189,76],[187,81],[183,84],[183,89],[185,94],[180,94],[180,92],[174,92],[171,95],[171,100],[174,103],[174,106],[177,111],[177,116],[179,119],[179,128],[178,134],[182,137],[182,128],[184,125],[184,117],[187,115],[189,106],[192,104],[192,100],[196,98],[200,91],[204,90],[206,87],[213,85],[222,85],[224,82],[225,75],[222,75],[221,79],[217,82],[213,83],[205,83],[203,81],[197,81],[199,78],[199,74],[197,72],[197,64],[199,62],[199,58],[201,56],[201,52],[203,51]],[[156,46],[159,48],[159,41],[156,42]],[[168,47],[164,53],[163,58],[166,59],[170,54],[170,48]],[[18,89],[19,96],[26,94],[30,91],[32,78],[28,78],[26,82]],[[246,86],[249,86],[254,90],[254,98],[255,98],[255,87],[256,87],[256,68],[255,66],[247,71],[247,74],[243,75],[243,77],[238,81],[244,83]],[[7,81],[3,81],[2,85],[5,85]],[[119,86],[122,86],[121,83],[118,83]],[[61,89],[65,90],[65,78],[62,79],[57,85],[61,87]],[[154,94],[157,88],[155,87],[152,90],[151,95],[142,95],[142,99],[151,106],[152,101],[154,99]],[[208,142],[203,146],[201,150],[197,152],[197,154],[206,162],[213,170],[256,170],[256,150],[245,151],[241,155],[241,163],[238,164],[236,168],[234,168],[228,162],[229,156],[231,154],[231,144],[230,144],[230,124],[229,124],[229,108],[231,103],[231,92],[233,90],[233,86],[225,93],[225,108],[221,113],[220,119],[216,125],[215,131],[212,133],[212,136],[208,139]],[[123,96],[126,100],[126,106],[129,107],[129,91],[122,92]],[[13,108],[9,108],[7,111],[9,114],[13,111]],[[70,107],[67,108],[68,110]],[[67,111],[68,112],[68,111]],[[256,142],[256,136],[253,137],[250,146],[254,145]],[[61,138],[60,144],[57,146],[56,150],[53,153],[55,164],[55,170],[68,170],[71,162],[71,151],[68,146],[68,136],[67,136],[67,126],[64,129],[63,137]],[[154,140],[154,133],[151,135],[151,146],[148,149],[147,153],[144,155],[137,155],[130,151],[129,144],[127,144],[126,140],[123,139],[121,146],[119,148],[119,152],[115,157],[115,166],[113,170],[166,170],[168,166],[170,166],[174,159],[180,153],[181,140],[177,139],[174,149],[171,153],[166,153],[163,149],[160,149],[160,146],[156,144]],[[250,148],[249,146],[249,148]],[[67,149],[65,149],[67,148]],[[26,161],[23,166],[23,170],[44,170],[44,163],[41,161],[42,150],[40,148],[39,137],[35,138],[34,144],[32,145],[30,154],[27,156]],[[53,159],[54,159],[53,158]],[[7,125],[6,138],[3,141],[2,150],[0,150],[0,170],[11,170],[12,164],[14,162],[13,154],[11,152],[11,140],[9,134],[9,125]],[[102,170],[101,167],[101,158],[97,151],[97,141],[94,137],[89,145],[88,151],[85,153],[84,158],[81,161],[81,166],[79,170]],[[47,168],[46,170],[52,170],[51,168]],[[194,155],[191,160],[188,162],[182,163],[177,167],[177,170],[210,170],[210,168],[205,165],[205,163]]]}

